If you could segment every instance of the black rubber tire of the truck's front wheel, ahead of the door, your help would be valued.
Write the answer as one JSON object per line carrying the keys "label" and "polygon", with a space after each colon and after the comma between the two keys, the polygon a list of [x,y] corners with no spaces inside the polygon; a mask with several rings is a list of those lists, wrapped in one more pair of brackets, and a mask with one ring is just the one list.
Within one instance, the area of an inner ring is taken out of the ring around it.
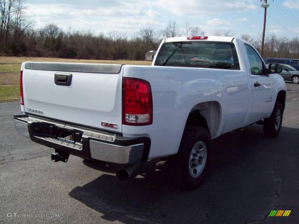
{"label": "black rubber tire of the truck's front wheel, ahead of the door", "polygon": [[[276,120],[278,110],[280,111],[280,122]],[[269,118],[264,119],[264,125],[263,125],[264,134],[270,138],[276,137],[280,132],[282,119],[283,119],[283,107],[281,102],[276,101],[271,116]]]}

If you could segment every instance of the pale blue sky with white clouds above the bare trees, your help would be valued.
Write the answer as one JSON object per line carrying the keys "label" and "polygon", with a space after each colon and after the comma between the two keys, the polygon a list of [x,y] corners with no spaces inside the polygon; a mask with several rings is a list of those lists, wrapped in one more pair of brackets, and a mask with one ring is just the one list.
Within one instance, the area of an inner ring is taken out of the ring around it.
{"label": "pale blue sky with white clouds above the bare trees", "polygon": [[[268,0],[266,35],[299,36],[299,1]],[[235,36],[261,35],[263,8],[259,0],[25,0],[27,15],[35,26],[54,22],[63,30],[95,33],[126,32],[130,37],[141,28],[162,30],[170,20],[199,26],[206,35],[231,29]]]}

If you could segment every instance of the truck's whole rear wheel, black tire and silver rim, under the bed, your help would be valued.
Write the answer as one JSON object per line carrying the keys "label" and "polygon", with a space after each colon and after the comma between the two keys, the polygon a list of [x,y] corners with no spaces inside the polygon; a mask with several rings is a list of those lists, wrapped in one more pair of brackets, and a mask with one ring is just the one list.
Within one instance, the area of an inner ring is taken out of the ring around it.
{"label": "truck's whole rear wheel, black tire and silver rim, under the bed", "polygon": [[187,126],[178,153],[167,159],[174,184],[182,190],[198,188],[208,172],[211,151],[209,132],[202,127]]}

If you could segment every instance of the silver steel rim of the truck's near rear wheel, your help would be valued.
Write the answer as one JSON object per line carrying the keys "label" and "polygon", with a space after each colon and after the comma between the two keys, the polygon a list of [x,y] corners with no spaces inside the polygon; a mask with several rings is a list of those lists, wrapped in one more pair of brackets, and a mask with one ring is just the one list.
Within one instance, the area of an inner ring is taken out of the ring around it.
{"label": "silver steel rim of the truck's near rear wheel", "polygon": [[189,173],[198,177],[205,168],[207,161],[207,146],[203,141],[196,142],[189,156]]}

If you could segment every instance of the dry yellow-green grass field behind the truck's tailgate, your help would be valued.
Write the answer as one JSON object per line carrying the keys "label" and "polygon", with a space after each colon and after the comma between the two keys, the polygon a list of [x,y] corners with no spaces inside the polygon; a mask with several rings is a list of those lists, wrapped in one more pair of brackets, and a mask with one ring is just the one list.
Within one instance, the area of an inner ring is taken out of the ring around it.
{"label": "dry yellow-green grass field behind the truck's tailgate", "polygon": [[0,102],[19,100],[19,72],[22,62],[76,62],[97,64],[151,65],[151,62],[129,60],[77,60],[34,57],[0,56]]}

